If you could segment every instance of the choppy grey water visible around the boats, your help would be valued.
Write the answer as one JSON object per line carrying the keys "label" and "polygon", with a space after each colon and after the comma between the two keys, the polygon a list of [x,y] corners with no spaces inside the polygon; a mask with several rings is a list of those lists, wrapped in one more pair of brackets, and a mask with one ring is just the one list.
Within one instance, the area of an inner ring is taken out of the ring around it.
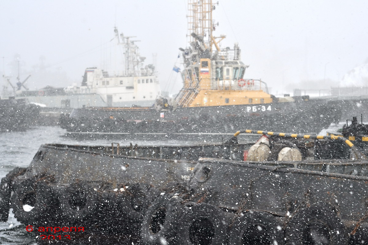
{"label": "choppy grey water visible around the boats", "polygon": [[[320,134],[336,131],[342,128],[344,123],[331,125],[328,130],[322,130]],[[39,146],[45,143],[61,144],[83,144],[83,145],[111,145],[110,140],[74,140],[62,137],[65,130],[56,126],[35,127],[26,132],[1,132],[0,133],[0,178],[3,178],[15,167],[26,167],[31,162]],[[170,144],[183,145],[188,141],[142,141],[125,140],[117,141],[121,145],[130,143],[138,145]],[[38,245],[31,232],[25,230],[25,226],[20,224],[13,213],[10,212],[7,222],[0,222],[0,244],[5,245]]]}

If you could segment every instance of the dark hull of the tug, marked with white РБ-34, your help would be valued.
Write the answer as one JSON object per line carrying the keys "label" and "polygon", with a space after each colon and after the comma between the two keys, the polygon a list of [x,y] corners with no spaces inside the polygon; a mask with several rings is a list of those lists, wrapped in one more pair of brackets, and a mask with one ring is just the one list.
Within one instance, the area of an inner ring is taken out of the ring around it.
{"label": "dark hull of the tug, marked with white \u0420\u0411-34", "polygon": [[319,133],[340,119],[326,100],[272,104],[146,109],[74,109],[61,125],[68,132],[232,133],[243,129]]}

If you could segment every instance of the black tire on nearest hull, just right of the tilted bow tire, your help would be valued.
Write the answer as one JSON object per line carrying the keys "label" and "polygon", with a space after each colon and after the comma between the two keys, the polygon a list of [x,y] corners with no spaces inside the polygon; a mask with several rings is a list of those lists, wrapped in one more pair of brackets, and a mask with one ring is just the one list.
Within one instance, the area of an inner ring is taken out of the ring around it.
{"label": "black tire on nearest hull, just right of the tilted bow tire", "polygon": [[[196,222],[200,221],[200,222]],[[229,217],[221,209],[210,204],[201,203],[187,207],[180,223],[177,226],[176,242],[178,245],[223,245],[227,243],[227,229],[229,227]],[[193,225],[203,224],[203,228],[212,228],[209,234],[199,230],[197,234],[193,234]],[[212,224],[212,227],[210,225]],[[196,236],[198,235],[198,236]],[[197,239],[209,238],[207,241],[198,241]]]}

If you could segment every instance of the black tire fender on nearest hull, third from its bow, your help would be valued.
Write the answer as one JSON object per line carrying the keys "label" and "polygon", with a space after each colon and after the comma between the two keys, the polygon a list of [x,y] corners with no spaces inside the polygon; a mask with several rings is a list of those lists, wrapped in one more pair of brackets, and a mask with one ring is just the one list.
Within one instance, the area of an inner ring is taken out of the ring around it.
{"label": "black tire fender on nearest hull, third from its bow", "polygon": [[[252,233],[247,230],[255,227],[258,231],[253,233],[255,239],[245,242],[245,237],[251,237]],[[263,228],[260,230],[260,228]],[[248,235],[247,235],[248,234]],[[266,235],[265,239],[262,236]],[[238,218],[229,230],[229,245],[245,245],[245,244],[284,244],[284,232],[282,224],[275,216],[270,213],[261,211],[250,211]]]}

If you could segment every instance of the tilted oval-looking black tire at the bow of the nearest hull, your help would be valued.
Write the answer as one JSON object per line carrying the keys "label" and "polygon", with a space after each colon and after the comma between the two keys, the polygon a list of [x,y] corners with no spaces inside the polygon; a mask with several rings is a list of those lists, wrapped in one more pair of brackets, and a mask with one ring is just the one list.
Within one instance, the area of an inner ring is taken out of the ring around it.
{"label": "tilted oval-looking black tire at the bow of the nearest hull", "polygon": [[[169,194],[160,196],[149,206],[142,221],[141,241],[143,244],[160,245],[165,241],[173,244],[176,227],[185,213],[182,201],[180,197],[173,197]],[[155,220],[158,212],[163,216],[161,220],[163,222]]]}

